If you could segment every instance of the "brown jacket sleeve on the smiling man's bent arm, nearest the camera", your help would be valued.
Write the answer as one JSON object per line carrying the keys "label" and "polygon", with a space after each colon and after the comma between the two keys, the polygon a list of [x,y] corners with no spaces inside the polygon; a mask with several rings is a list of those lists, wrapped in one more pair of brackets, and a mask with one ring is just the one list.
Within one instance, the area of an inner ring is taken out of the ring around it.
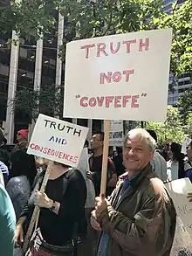
{"label": "brown jacket sleeve on the smiling man's bent arm, nearest the camera", "polygon": [[[157,255],[156,243],[161,243],[158,246],[160,250],[166,245],[171,225],[168,211],[161,204],[163,202],[158,198],[147,197],[134,219],[107,206],[97,220],[103,232],[109,234],[125,251],[134,255]],[[158,239],[161,232],[161,239]]]}

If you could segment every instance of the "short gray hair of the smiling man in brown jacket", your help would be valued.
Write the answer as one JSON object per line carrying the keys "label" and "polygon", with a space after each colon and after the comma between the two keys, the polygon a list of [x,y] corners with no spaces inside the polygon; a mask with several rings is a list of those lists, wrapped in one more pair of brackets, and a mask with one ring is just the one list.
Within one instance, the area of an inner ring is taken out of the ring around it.
{"label": "short gray hair of the smiling man in brown jacket", "polygon": [[149,135],[147,130],[143,128],[134,128],[130,130],[127,134],[126,140],[124,142],[124,146],[127,143],[127,139],[130,137],[137,138],[140,142],[145,142],[147,146],[149,147],[150,151],[153,151],[156,149],[156,142],[154,141],[154,138]]}

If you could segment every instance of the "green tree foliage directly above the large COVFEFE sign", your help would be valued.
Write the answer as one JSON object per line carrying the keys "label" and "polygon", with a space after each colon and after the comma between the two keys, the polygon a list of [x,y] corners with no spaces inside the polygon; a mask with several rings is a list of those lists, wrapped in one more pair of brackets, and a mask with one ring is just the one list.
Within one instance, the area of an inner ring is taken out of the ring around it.
{"label": "green tree foliage directly above the large COVFEFE sign", "polygon": [[61,2],[60,10],[67,17],[65,40],[60,48],[64,60],[65,45],[71,40],[150,30],[154,28],[154,19],[161,19],[164,16],[161,11],[161,0]]}

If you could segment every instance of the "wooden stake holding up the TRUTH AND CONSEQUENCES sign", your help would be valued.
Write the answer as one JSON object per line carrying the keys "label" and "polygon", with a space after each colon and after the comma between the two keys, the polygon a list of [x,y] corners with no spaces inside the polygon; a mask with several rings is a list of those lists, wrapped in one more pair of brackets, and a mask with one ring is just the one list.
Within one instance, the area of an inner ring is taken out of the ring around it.
{"label": "wooden stake holding up the TRUTH AND CONSEQUENCES sign", "polygon": [[[51,173],[51,170],[52,170],[52,165],[53,165],[53,161],[49,161],[49,164],[48,164],[46,172],[45,172],[44,180],[43,180],[43,183],[41,185],[41,189],[40,189],[41,192],[45,192],[45,187],[46,187],[46,184],[48,182],[48,179],[49,179],[49,176],[50,176],[50,173]],[[30,225],[28,227],[26,236],[24,238],[24,246],[23,246],[24,253],[26,253],[26,251],[28,249],[30,239],[31,239],[31,234],[32,234],[33,229],[34,229],[34,225],[38,221],[39,211],[40,211],[39,207],[35,206],[35,209],[32,213]]]}

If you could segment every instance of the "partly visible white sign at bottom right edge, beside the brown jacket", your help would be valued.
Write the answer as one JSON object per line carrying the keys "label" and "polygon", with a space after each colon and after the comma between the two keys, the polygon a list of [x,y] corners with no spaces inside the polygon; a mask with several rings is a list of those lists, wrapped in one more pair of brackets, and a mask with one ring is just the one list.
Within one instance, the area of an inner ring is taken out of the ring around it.
{"label": "partly visible white sign at bottom right edge, beside the brown jacket", "polygon": [[172,197],[177,213],[175,239],[170,256],[192,255],[192,203],[187,195],[192,192],[189,178],[167,183],[166,187]]}

